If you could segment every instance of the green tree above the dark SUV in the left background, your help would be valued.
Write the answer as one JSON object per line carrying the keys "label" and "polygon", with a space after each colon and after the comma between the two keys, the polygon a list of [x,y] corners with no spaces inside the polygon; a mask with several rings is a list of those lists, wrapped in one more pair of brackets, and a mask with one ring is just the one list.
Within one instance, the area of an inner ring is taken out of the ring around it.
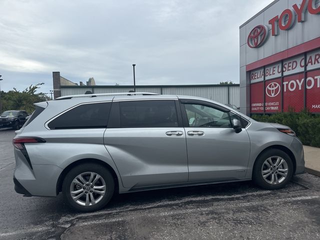
{"label": "green tree above the dark SUV in the left background", "polygon": [[35,109],[33,103],[49,100],[49,97],[45,93],[37,92],[42,84],[44,83],[31,84],[23,91],[19,91],[13,87],[13,90],[1,92],[2,110],[26,110],[28,113],[31,113]]}

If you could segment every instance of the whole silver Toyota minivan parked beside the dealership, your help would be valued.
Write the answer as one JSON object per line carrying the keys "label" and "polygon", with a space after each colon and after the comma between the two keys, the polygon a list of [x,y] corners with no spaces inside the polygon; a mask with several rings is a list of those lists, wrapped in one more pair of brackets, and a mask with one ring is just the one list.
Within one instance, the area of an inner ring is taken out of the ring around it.
{"label": "whole silver Toyota minivan parked beside the dealership", "polygon": [[12,141],[15,191],[62,191],[79,211],[100,209],[114,192],[250,179],[277,189],[304,172],[289,127],[205,98],[113,93],[35,105]]}

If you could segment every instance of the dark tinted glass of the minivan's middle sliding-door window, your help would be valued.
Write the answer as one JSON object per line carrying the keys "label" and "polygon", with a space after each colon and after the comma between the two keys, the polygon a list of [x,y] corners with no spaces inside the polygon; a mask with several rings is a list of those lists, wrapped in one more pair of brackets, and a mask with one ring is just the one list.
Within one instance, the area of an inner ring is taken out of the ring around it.
{"label": "dark tinted glass of the minivan's middle sliding-door window", "polygon": [[173,100],[120,102],[121,127],[177,127]]}

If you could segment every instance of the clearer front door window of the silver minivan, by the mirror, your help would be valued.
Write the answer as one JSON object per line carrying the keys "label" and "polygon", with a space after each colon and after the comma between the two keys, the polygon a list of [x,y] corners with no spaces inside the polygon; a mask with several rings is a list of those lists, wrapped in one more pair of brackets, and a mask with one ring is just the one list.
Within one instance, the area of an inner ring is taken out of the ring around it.
{"label": "clearer front door window of the silver minivan, by the mirror", "polygon": [[184,104],[190,127],[232,127],[228,112],[201,104]]}

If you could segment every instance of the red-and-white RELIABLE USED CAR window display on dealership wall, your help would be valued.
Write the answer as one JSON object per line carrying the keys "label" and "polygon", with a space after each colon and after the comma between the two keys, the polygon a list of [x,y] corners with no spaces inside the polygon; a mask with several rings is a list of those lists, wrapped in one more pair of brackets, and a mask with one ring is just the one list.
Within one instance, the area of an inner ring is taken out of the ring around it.
{"label": "red-and-white RELIABLE USED CAR window display on dealership wall", "polygon": [[[249,72],[250,112],[274,113],[305,106],[320,113],[320,49]],[[304,71],[306,70],[306,71]]]}

